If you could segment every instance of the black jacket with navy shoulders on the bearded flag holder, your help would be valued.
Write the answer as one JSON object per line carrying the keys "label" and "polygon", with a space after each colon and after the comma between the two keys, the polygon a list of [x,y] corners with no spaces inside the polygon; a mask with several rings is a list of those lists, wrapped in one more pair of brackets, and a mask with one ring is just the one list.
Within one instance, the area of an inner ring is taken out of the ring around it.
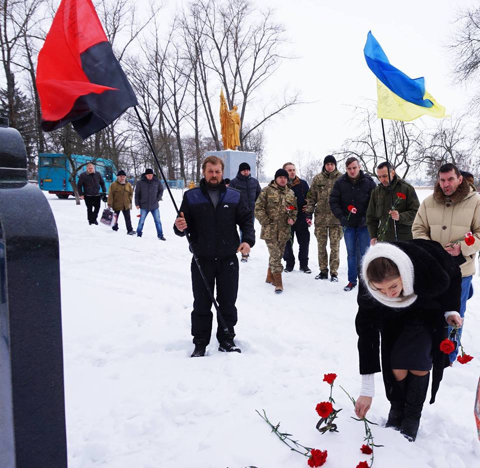
{"label": "black jacket with navy shoulders on the bearded flag holder", "polygon": [[[199,257],[222,258],[235,255],[240,245],[236,225],[240,228],[242,242],[248,243],[250,247],[255,244],[253,217],[242,194],[226,187],[223,181],[218,190],[220,198],[216,208],[213,208],[208,195],[205,179],[200,180],[198,187],[183,194],[179,211],[183,212],[193,249]],[[177,236],[185,235],[175,225],[173,231]]]}

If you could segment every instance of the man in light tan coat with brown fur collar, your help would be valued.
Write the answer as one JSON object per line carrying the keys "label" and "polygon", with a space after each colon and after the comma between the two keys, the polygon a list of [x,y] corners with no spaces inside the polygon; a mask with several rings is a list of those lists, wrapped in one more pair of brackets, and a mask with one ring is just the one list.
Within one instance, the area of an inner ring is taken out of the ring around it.
{"label": "man in light tan coat with brown fur collar", "polygon": [[[475,273],[475,256],[480,251],[480,196],[462,178],[454,164],[444,164],[438,170],[433,194],[421,203],[411,232],[413,239],[439,242],[457,260],[462,276],[460,310],[457,312],[463,318],[470,296],[471,278]],[[467,232],[471,232],[475,240],[471,245],[464,240]],[[455,350],[450,354],[450,363],[457,353],[458,350]]]}

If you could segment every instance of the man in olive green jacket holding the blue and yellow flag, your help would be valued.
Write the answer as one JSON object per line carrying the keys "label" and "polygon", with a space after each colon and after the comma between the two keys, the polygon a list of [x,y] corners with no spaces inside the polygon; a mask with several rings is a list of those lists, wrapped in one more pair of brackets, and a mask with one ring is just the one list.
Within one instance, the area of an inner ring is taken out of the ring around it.
{"label": "man in olive green jacket holding the blue and yellow flag", "polygon": [[[402,193],[405,198],[397,202],[395,209],[391,210],[390,184],[388,181],[388,168],[390,169],[391,190],[393,201],[397,193]],[[412,239],[411,225],[420,206],[415,189],[403,179],[400,179],[395,170],[385,161],[378,164],[376,174],[380,183],[371,191],[370,201],[366,210],[366,226],[370,235],[370,245],[376,242],[394,242]],[[396,226],[393,226],[395,221]],[[385,225],[385,223],[387,223]],[[383,227],[385,226],[385,231]],[[395,228],[397,239],[395,239]]]}

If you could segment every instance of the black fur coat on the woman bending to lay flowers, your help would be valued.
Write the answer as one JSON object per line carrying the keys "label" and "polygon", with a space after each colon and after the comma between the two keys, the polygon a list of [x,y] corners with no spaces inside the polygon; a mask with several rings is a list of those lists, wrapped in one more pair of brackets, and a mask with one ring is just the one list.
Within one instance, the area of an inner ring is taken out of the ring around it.
{"label": "black fur coat on the woman bending to lay flowers", "polygon": [[390,399],[394,391],[390,364],[393,344],[406,325],[418,324],[430,332],[432,339],[430,403],[433,403],[443,369],[449,365],[448,355],[440,351],[440,342],[447,337],[444,313],[460,308],[460,269],[438,242],[414,239],[391,244],[405,252],[413,264],[413,292],[417,297],[412,304],[395,309],[373,298],[364,281],[359,282],[355,327],[360,374],[382,371],[386,396]]}

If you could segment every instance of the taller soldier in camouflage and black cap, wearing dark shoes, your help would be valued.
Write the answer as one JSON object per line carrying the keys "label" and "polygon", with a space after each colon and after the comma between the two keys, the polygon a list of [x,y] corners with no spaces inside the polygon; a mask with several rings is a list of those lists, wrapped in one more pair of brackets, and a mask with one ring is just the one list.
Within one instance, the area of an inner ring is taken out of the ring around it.
{"label": "taller soldier in camouflage and black cap, wearing dark shoes", "polygon": [[[310,220],[315,213],[315,237],[318,243],[318,266],[320,273],[315,279],[328,278],[327,237],[330,239],[330,281],[338,281],[340,263],[340,239],[342,229],[340,221],[333,216],[328,199],[335,181],[341,177],[336,168],[336,160],[328,155],[323,159],[321,172],[313,177],[310,191],[307,193],[306,217]],[[308,222],[308,221],[307,221]]]}

